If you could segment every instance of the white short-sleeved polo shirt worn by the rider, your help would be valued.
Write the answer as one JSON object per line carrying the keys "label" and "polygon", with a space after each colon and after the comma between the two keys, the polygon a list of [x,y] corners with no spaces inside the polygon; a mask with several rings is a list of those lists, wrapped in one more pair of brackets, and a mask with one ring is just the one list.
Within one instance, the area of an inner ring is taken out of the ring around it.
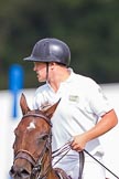
{"label": "white short-sleeved polo shirt worn by the rider", "polygon": [[[61,83],[56,93],[46,83],[36,90],[34,97],[33,107],[40,109],[44,106],[53,105],[61,98],[52,117],[53,150],[62,147],[73,136],[89,130],[105,113],[112,109],[100,86],[95,81],[76,74],[71,69],[69,71],[69,77]],[[86,145],[86,150],[91,155],[97,152],[102,155],[104,152],[98,138],[89,141]],[[73,161],[76,162],[76,151],[71,150],[67,156],[67,164],[72,162],[73,165]],[[61,164],[64,162],[63,160]]]}

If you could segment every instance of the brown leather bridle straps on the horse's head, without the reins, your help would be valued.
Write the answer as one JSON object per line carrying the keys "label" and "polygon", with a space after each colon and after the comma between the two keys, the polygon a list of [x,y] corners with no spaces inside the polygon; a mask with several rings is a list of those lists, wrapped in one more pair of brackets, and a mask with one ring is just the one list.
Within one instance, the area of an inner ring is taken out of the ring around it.
{"label": "brown leather bridle straps on the horse's head, without the reins", "polygon": [[[39,110],[35,110],[34,114],[25,114],[22,119],[25,119],[26,117],[36,117],[37,119],[42,118],[44,119],[48,125],[50,127],[52,127],[52,124],[51,124],[51,120],[48,120],[48,118],[46,116],[44,116],[43,114],[40,114]],[[15,156],[14,156],[14,161],[19,158],[22,158],[22,159],[25,159],[28,160],[31,165],[32,165],[32,171],[31,171],[31,175],[30,175],[30,179],[44,179],[46,178],[48,171],[50,171],[50,166],[51,164],[48,164],[47,166],[47,169],[45,171],[45,173],[43,173],[42,176],[40,175],[40,171],[41,171],[41,167],[42,167],[42,162],[43,162],[43,158],[45,156],[45,152],[46,150],[50,150],[50,146],[51,146],[51,131],[50,134],[46,134],[46,139],[44,141],[44,147],[43,147],[43,150],[42,152],[40,154],[39,156],[39,159],[35,160],[35,158],[33,157],[33,155],[31,155],[28,150],[24,150],[24,149],[20,149],[19,151],[17,151]],[[13,162],[14,162],[13,161]]]}

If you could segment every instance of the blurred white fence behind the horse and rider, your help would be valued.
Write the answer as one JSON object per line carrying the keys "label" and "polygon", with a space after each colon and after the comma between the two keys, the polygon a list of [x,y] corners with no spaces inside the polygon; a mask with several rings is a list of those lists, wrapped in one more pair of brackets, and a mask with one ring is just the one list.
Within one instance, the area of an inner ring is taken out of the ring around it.
{"label": "blurred white fence behind the horse and rider", "polygon": [[[113,107],[119,117],[119,84],[108,84],[101,85],[105,94],[113,104]],[[32,98],[34,95],[34,90],[22,91],[32,107]],[[18,95],[18,117],[14,119],[12,117],[12,94],[9,91],[0,91],[0,178],[9,179],[9,170],[12,166],[13,151],[12,144],[14,140],[13,130],[21,119],[21,109],[19,106],[19,99],[21,93]],[[117,125],[112,130],[107,133],[105,136],[100,137],[100,141],[105,149],[105,165],[112,172],[119,176],[119,125]],[[107,177],[109,179],[115,179],[112,175],[107,171]]]}

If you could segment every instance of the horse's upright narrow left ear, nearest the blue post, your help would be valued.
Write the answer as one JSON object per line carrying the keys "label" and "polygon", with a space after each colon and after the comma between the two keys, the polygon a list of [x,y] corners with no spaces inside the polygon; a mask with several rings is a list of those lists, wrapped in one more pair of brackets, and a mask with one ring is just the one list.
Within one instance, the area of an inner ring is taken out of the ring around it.
{"label": "horse's upright narrow left ear, nearest the blue post", "polygon": [[22,93],[21,98],[20,98],[20,106],[21,106],[23,115],[25,115],[30,110],[28,103],[26,103],[26,98],[25,98],[23,93]]}

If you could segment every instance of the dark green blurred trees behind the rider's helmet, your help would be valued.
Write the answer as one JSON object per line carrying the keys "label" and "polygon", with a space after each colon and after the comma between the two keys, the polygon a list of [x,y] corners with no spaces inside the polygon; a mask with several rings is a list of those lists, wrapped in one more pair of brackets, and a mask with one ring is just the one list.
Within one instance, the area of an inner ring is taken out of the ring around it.
{"label": "dark green blurred trees behind the rider's helmet", "polygon": [[[19,63],[25,70],[25,87],[37,82],[30,63],[36,41],[54,36],[72,51],[72,66],[98,83],[119,81],[118,0],[1,0],[0,1],[0,88],[7,88],[7,71]],[[39,85],[39,84],[37,84]]]}

